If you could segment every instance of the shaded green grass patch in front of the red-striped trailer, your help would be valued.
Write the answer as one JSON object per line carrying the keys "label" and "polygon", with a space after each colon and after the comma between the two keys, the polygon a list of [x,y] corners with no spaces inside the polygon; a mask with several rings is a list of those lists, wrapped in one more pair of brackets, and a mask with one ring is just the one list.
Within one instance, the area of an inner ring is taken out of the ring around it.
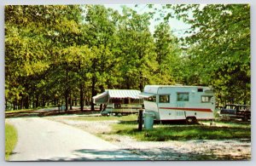
{"label": "shaded green grass patch in front of the red-striped trailer", "polygon": [[216,127],[201,125],[155,125],[154,129],[142,132],[136,124],[113,124],[112,134],[129,135],[137,140],[225,140],[250,139],[250,128]]}

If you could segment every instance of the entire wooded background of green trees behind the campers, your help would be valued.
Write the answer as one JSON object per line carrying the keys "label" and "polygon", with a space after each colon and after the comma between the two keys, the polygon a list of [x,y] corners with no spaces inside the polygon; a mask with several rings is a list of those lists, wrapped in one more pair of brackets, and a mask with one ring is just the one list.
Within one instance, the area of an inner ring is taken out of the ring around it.
{"label": "entire wooded background of green trees behind the campers", "polygon": [[[6,110],[83,110],[105,89],[146,84],[211,86],[218,105],[251,103],[250,5],[147,8],[5,6]],[[155,16],[162,21],[151,32]],[[170,18],[191,25],[186,37],[173,35]]]}

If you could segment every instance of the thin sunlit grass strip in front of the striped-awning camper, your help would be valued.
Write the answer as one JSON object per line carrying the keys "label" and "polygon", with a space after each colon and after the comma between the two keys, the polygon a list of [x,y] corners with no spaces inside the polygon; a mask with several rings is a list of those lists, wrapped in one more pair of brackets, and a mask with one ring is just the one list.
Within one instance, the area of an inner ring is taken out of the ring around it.
{"label": "thin sunlit grass strip in front of the striped-awning camper", "polygon": [[81,120],[81,121],[113,121],[113,120],[118,120],[118,121],[137,121],[137,115],[132,114],[128,116],[83,116],[83,117],[70,117],[70,120]]}

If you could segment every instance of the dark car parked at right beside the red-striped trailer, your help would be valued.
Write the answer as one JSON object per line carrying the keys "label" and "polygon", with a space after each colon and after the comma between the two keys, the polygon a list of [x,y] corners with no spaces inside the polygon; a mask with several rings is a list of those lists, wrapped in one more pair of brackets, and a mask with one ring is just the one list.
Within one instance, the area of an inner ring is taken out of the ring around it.
{"label": "dark car parked at right beside the red-striped trailer", "polygon": [[251,119],[251,107],[247,105],[229,104],[220,110],[220,117],[225,119],[240,118],[243,121]]}

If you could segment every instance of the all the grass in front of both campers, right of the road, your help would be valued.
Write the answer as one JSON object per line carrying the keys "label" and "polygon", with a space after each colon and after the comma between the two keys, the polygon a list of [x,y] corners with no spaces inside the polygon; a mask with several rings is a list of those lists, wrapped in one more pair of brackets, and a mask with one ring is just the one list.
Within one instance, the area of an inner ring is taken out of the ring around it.
{"label": "all the grass in front of both campers, right of the road", "polygon": [[251,125],[244,122],[218,122],[210,126],[212,121],[201,121],[204,125],[186,124],[154,124],[154,129],[142,132],[137,130],[137,115],[110,116],[110,117],[70,117],[70,120],[82,121],[113,121],[112,132],[109,135],[129,135],[137,140],[225,140],[225,139],[251,139]]}

